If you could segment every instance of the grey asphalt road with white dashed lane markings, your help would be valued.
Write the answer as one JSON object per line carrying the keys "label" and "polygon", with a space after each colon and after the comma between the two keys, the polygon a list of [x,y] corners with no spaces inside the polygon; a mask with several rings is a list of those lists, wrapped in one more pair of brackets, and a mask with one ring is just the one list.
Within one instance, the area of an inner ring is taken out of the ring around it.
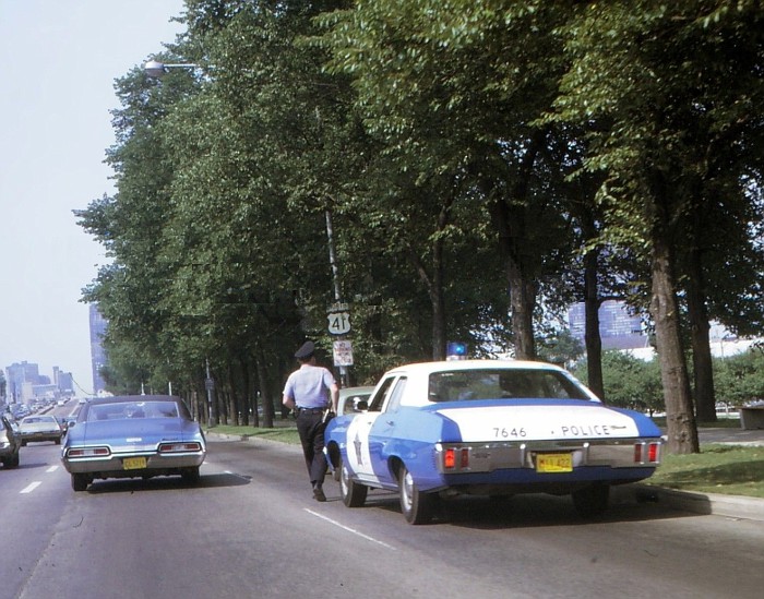
{"label": "grey asphalt road with white dashed lane markings", "polygon": [[372,492],[312,500],[299,450],[212,441],[202,482],[99,481],[74,493],[52,443],[0,468],[0,597],[760,598],[764,523],[566,498],[451,504],[429,526]]}

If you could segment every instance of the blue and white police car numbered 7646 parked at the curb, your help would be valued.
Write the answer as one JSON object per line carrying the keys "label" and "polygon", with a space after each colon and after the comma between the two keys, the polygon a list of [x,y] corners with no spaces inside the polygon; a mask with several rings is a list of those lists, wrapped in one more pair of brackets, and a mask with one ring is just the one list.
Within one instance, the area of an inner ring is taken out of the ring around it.
{"label": "blue and white police car numbered 7646 parked at the curb", "polygon": [[583,516],[599,514],[612,484],[653,475],[660,435],[556,366],[454,360],[389,371],[368,411],[337,416],[324,438],[345,505],[387,489],[421,524],[456,495],[571,494]]}

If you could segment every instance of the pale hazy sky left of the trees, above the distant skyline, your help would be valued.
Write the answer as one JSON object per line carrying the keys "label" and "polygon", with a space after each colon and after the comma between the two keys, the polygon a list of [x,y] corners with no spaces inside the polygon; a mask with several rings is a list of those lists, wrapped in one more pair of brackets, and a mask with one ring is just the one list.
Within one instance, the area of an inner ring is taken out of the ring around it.
{"label": "pale hazy sky left of the trees, above the distant skyline", "polygon": [[76,224],[114,193],[115,80],[182,25],[182,0],[0,0],[0,369],[27,361],[93,392],[82,289],[107,264]]}

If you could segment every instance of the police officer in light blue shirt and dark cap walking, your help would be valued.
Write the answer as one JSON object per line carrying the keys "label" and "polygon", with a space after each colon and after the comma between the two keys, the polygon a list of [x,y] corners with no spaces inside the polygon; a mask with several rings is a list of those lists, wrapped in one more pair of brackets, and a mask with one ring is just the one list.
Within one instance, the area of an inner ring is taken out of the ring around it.
{"label": "police officer in light blue shirt and dark cap walking", "polygon": [[287,379],[282,403],[297,410],[297,432],[313,486],[313,498],[326,501],[322,488],[327,468],[323,453],[324,412],[330,409],[336,414],[339,387],[327,369],[315,364],[314,352],[313,342],[306,342],[295,354],[300,368]]}

